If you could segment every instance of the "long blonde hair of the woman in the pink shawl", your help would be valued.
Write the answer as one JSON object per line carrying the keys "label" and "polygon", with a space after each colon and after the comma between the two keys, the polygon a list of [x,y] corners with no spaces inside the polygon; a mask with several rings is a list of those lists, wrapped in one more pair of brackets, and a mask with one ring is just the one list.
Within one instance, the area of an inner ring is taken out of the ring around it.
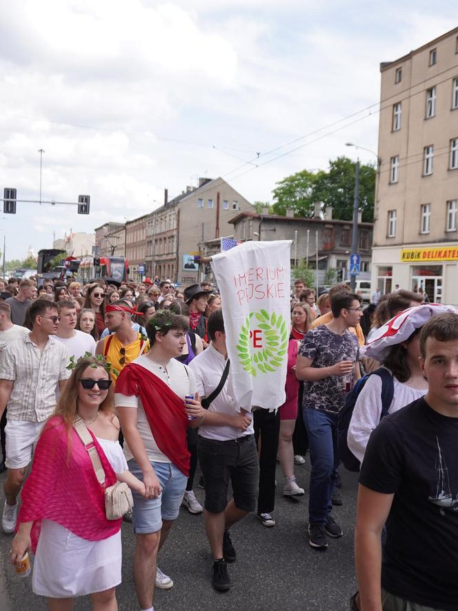
{"label": "long blonde hair of the woman in the pink shawl", "polygon": [[[81,380],[84,371],[86,371],[88,367],[93,367],[94,369],[100,368],[103,369],[103,371],[106,371],[105,366],[105,359],[91,356],[79,358],[77,364],[72,370],[72,375],[66,383],[66,387],[62,391],[56,410],[54,411],[54,416],[61,416],[69,435],[72,429],[74,417],[77,414],[79,380]],[[110,375],[108,374],[108,379],[109,378]],[[106,414],[115,413],[115,391],[113,390],[113,385],[110,386],[106,398],[104,398],[102,403],[99,405],[99,411],[103,411]]]}

